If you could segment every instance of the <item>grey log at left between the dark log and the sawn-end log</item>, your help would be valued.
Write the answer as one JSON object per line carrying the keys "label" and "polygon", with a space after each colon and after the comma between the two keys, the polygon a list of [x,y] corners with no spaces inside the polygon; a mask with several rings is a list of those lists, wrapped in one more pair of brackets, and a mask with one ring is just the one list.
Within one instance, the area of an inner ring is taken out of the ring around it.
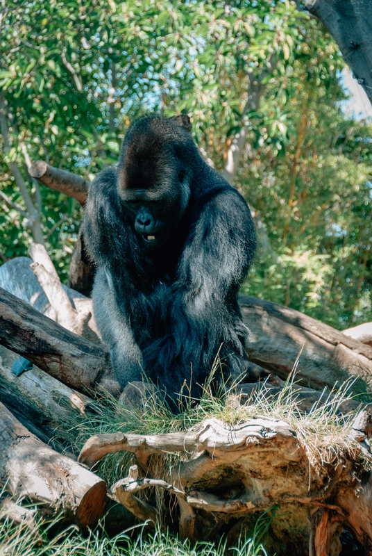
{"label": "grey log at left between the dark log and the sawn-end log", "polygon": [[94,411],[94,401],[37,367],[16,376],[11,370],[16,359],[0,346],[0,402],[37,438],[65,452],[74,438],[71,423]]}

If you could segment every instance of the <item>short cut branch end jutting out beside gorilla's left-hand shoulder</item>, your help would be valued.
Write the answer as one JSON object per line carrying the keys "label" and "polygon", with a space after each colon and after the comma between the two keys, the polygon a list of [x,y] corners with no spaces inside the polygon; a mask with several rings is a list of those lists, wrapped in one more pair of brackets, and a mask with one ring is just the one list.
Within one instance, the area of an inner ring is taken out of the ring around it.
{"label": "short cut branch end jutting out beside gorilla's left-hand shoulder", "polygon": [[31,165],[30,175],[51,189],[65,193],[76,199],[82,206],[87,198],[89,181],[66,170],[58,170],[44,161],[36,161]]}

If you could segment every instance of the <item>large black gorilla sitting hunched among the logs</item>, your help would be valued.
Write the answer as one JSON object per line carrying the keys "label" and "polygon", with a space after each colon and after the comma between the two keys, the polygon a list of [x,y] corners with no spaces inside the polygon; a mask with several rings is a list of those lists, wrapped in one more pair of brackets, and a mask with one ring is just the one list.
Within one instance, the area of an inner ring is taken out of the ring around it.
{"label": "large black gorilla sitting hunched among the logs", "polygon": [[246,373],[237,293],[255,252],[251,213],[176,118],[130,126],[119,163],[90,186],[84,234],[121,387],[145,373],[172,397],[185,381],[200,395],[218,352],[225,378]]}

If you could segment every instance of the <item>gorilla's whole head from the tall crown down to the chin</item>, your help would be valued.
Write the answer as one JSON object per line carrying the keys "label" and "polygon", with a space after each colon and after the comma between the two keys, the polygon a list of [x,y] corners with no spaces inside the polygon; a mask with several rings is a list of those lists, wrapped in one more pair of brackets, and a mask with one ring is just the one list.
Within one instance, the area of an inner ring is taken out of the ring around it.
{"label": "gorilla's whole head from the tall crown down to the chin", "polygon": [[139,120],[126,135],[117,193],[146,249],[167,243],[185,213],[192,181],[192,167],[185,160],[190,147],[194,142],[188,134],[169,120]]}

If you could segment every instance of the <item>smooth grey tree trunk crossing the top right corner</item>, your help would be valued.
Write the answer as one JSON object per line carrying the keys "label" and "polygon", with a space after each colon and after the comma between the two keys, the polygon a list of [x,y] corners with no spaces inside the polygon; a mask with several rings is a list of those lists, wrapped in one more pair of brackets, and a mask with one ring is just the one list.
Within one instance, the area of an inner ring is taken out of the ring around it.
{"label": "smooth grey tree trunk crossing the top right corner", "polygon": [[333,36],[372,104],[372,1],[305,0],[304,5]]}

